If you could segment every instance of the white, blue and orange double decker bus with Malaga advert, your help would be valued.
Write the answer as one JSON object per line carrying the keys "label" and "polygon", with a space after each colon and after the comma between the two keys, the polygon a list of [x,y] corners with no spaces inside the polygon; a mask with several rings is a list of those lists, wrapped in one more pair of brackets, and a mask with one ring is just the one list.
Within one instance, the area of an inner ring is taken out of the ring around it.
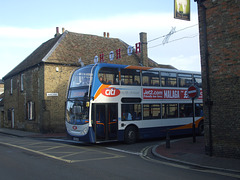
{"label": "white, blue and orange double decker bus with Malaga advert", "polygon": [[74,139],[97,143],[192,133],[192,101],[187,89],[200,88],[195,100],[196,132],[202,134],[202,81],[199,72],[98,63],[75,70],[69,82],[66,129]]}

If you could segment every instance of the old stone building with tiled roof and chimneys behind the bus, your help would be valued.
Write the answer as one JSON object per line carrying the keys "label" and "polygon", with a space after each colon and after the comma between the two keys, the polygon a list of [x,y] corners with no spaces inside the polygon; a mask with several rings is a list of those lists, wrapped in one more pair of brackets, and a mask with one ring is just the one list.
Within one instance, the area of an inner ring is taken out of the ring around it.
{"label": "old stone building with tiled roof and chimneys behind the bus", "polygon": [[[147,56],[146,33],[140,33],[141,53],[127,54],[128,44],[109,36],[94,36],[58,28],[53,39],[39,46],[4,79],[4,127],[35,132],[65,132],[65,102],[74,69],[99,61],[115,64],[159,65]],[[110,52],[115,53],[109,59]],[[95,59],[96,60],[96,59]]]}

